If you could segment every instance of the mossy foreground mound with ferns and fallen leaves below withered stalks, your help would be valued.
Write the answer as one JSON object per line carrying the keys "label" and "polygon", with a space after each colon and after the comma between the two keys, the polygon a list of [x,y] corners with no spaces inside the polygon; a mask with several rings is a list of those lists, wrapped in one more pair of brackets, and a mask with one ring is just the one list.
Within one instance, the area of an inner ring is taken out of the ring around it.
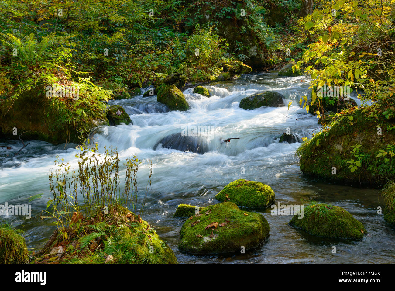
{"label": "mossy foreground mound with ferns and fallen leaves below withered stalks", "polygon": [[[80,225],[78,229],[67,229],[68,240],[64,240],[62,235],[55,236],[51,246],[38,253],[34,262],[177,264],[173,250],[156,230],[140,215],[124,207],[117,205],[109,207],[107,214],[82,217]],[[56,252],[59,245],[63,249],[61,256]]]}

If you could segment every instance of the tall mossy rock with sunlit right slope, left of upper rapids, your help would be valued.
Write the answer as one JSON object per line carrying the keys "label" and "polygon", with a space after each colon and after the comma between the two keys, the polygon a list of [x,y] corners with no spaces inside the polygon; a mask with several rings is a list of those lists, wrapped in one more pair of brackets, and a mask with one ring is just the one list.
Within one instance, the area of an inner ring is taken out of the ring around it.
{"label": "tall mossy rock with sunlit right slope, left of upper rapids", "polygon": [[175,85],[163,84],[160,86],[156,100],[167,105],[170,110],[186,111],[189,109],[184,94]]}

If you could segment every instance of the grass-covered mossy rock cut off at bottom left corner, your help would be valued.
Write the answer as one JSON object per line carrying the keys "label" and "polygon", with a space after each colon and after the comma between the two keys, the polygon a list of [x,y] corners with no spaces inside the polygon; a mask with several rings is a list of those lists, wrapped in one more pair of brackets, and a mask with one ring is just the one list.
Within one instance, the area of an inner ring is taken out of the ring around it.
{"label": "grass-covered mossy rock cut off at bottom left corner", "polygon": [[0,264],[26,264],[27,261],[24,238],[9,225],[0,225]]}

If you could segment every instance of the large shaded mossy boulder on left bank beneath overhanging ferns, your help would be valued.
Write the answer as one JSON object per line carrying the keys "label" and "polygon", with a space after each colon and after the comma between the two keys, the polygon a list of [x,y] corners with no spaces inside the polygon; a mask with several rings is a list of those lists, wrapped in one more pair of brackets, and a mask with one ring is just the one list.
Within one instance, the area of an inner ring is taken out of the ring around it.
{"label": "large shaded mossy boulder on left bank beneath overhanging ferns", "polygon": [[[53,106],[53,101],[45,96],[44,89],[37,85],[18,98],[0,102],[0,128],[6,138],[18,139],[23,133],[21,138],[24,141],[43,140],[53,144],[79,142],[78,128],[89,132],[90,128],[107,124],[105,106],[103,110],[95,109],[97,119],[89,116],[77,118],[75,111]],[[70,120],[74,122],[70,123]]]}

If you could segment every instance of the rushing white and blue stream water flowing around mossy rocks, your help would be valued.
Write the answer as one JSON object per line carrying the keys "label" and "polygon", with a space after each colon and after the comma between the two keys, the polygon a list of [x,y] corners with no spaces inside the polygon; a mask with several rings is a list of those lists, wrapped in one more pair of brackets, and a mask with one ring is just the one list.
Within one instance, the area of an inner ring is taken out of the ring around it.
{"label": "rushing white and blue stream water flowing around mossy rocks", "polygon": [[[104,146],[117,147],[121,161],[137,155],[143,159],[138,181],[140,201],[145,193],[152,161],[152,189],[148,192],[143,219],[156,227],[158,234],[173,249],[179,263],[392,263],[395,259],[395,229],[377,213],[382,199],[375,189],[344,185],[303,175],[294,151],[300,143],[279,143],[283,132],[310,137],[319,129],[316,116],[298,105],[308,94],[305,77],[278,77],[275,72],[248,74],[239,79],[209,84],[210,98],[184,94],[188,111],[169,111],[156,102],[156,96],[136,96],[111,101],[122,105],[133,125],[96,128],[91,140]],[[242,98],[263,90],[274,90],[284,96],[286,106],[239,108]],[[355,98],[354,98],[355,99]],[[293,102],[288,110],[288,103]],[[359,102],[360,103],[360,102]],[[182,137],[192,133],[193,126],[207,128],[199,138]],[[189,129],[191,130],[189,131]],[[186,130],[186,131],[185,131]],[[222,139],[232,140],[230,144]],[[56,155],[77,164],[75,145],[54,146],[31,141],[16,157],[19,141],[0,141],[0,204],[27,204],[32,195],[45,193],[49,198],[48,174]],[[189,148],[191,151],[181,151]],[[178,150],[181,149],[181,150]],[[124,172],[124,167],[120,171]],[[124,178],[121,175],[122,178]],[[191,256],[177,249],[183,219],[172,218],[181,203],[200,207],[218,203],[214,196],[225,185],[238,178],[261,181],[275,191],[275,203],[301,204],[301,199],[315,197],[319,202],[341,206],[361,221],[368,235],[361,241],[317,238],[288,225],[291,216],[272,216],[270,209],[261,212],[270,225],[270,236],[260,248],[245,254],[227,256]],[[33,215],[45,209],[47,199],[32,203]],[[5,217],[14,225],[23,225],[28,246],[37,248],[52,233],[53,225],[40,218]],[[333,253],[333,246],[336,253]]]}

